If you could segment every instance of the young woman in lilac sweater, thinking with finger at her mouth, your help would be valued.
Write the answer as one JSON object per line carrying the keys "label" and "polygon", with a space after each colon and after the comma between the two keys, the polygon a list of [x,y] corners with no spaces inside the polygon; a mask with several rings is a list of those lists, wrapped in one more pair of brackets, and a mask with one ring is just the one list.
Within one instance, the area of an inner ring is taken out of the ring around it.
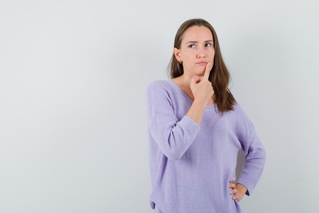
{"label": "young woman in lilac sweater, thinking with finger at her mouth", "polygon": [[[238,202],[259,181],[266,152],[235,101],[217,34],[203,19],[179,27],[169,80],[146,89],[152,192],[156,213],[243,212]],[[238,150],[245,152],[234,183]]]}

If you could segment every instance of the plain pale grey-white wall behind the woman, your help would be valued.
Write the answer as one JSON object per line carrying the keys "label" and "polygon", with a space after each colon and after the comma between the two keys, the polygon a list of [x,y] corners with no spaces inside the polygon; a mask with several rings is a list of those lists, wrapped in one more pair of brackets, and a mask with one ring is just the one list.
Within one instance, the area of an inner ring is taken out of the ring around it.
{"label": "plain pale grey-white wall behind the woman", "polygon": [[0,212],[153,212],[145,89],[168,79],[190,18],[216,30],[267,151],[242,209],[319,212],[318,11],[309,0],[0,1]]}

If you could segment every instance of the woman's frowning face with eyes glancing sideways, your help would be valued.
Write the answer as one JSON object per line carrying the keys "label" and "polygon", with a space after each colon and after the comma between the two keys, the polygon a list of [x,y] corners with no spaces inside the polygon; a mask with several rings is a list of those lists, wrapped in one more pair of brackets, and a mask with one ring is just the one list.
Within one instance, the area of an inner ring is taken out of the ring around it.
{"label": "woman's frowning face with eyes glancing sideways", "polygon": [[[177,60],[182,61],[184,74],[203,76],[206,63],[209,62],[210,69],[214,65],[215,49],[211,31],[204,26],[190,27],[183,34],[180,49],[174,48],[173,52]],[[206,63],[199,64],[200,61]]]}

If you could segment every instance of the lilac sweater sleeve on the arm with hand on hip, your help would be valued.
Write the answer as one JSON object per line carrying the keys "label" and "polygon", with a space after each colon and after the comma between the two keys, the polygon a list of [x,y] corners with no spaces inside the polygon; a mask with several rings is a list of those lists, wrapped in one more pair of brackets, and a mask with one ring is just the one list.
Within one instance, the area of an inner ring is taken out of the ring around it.
{"label": "lilac sweater sleeve on the arm with hand on hip", "polygon": [[250,196],[261,177],[266,151],[254,125],[239,104],[237,104],[236,111],[236,136],[245,152],[245,164],[236,183],[244,185],[247,188],[246,195]]}

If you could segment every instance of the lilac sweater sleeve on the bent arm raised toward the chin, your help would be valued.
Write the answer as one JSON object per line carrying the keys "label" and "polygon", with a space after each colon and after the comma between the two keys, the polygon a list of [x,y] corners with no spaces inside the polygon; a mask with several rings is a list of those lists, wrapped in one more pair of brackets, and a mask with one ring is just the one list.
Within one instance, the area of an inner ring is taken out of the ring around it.
{"label": "lilac sweater sleeve on the bent arm raised toward the chin", "polygon": [[148,128],[159,149],[168,159],[180,159],[192,145],[200,126],[187,115],[178,121],[169,93],[158,81],[147,86],[146,113]]}

